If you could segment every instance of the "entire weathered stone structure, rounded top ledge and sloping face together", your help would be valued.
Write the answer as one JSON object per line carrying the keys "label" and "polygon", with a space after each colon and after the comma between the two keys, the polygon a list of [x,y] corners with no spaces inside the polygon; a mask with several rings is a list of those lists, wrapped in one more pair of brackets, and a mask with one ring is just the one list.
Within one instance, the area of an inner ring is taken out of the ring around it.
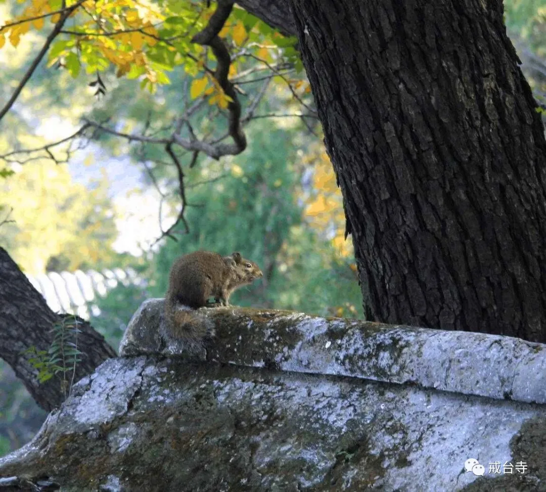
{"label": "entire weathered stone structure, rounded top ledge and sloping face together", "polygon": [[546,491],[543,345],[224,307],[203,310],[217,337],[186,347],[162,302],[0,459],[9,487]]}

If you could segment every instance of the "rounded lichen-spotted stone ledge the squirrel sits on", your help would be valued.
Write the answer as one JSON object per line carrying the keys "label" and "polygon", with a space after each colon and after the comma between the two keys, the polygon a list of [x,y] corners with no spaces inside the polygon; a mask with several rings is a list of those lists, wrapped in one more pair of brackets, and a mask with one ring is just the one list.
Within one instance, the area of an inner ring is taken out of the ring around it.
{"label": "rounded lichen-spotted stone ledge the squirrel sits on", "polygon": [[235,365],[546,402],[546,346],[541,343],[293,311],[218,307],[200,310],[215,326],[216,338],[206,346],[185,348],[165,333],[162,308],[163,299],[140,306],[120,355],[197,355]]}

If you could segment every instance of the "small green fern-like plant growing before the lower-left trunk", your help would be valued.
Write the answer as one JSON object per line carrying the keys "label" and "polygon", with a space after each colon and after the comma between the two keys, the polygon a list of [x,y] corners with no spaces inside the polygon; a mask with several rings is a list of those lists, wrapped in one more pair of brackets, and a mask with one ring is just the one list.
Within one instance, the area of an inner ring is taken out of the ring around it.
{"label": "small green fern-like plant growing before the lower-left trunk", "polygon": [[61,382],[64,398],[70,394],[76,375],[76,366],[81,362],[78,334],[81,321],[74,315],[61,315],[51,328],[53,340],[48,350],[37,350],[32,346],[24,354],[30,355],[28,363],[38,371],[38,382],[45,383],[57,376]]}

